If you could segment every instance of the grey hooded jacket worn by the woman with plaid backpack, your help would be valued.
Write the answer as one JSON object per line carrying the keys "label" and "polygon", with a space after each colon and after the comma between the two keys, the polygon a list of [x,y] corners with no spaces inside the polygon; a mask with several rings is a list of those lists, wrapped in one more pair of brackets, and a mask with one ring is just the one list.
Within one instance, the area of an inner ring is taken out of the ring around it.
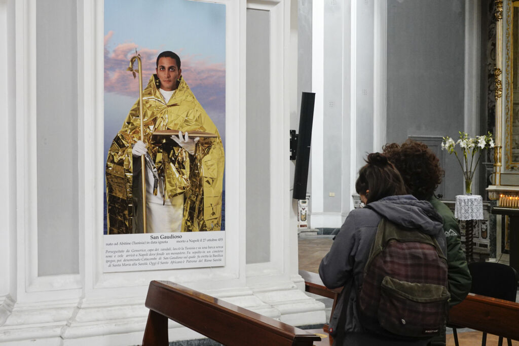
{"label": "grey hooded jacket worn by the woman with plaid backpack", "polygon": [[[324,256],[319,266],[319,274],[328,288],[344,286],[330,327],[337,329],[340,313],[346,312],[345,340],[340,344],[384,344],[384,345],[421,345],[427,341],[391,342],[363,333],[357,316],[357,294],[362,285],[364,266],[375,239],[378,223],[386,217],[394,224],[408,229],[418,229],[438,241],[443,253],[446,253],[445,233],[442,217],[436,213],[427,201],[419,201],[411,195],[390,196],[368,204],[367,207],[349,213],[340,232]],[[346,309],[344,308],[346,304]],[[334,343],[337,344],[337,343]]]}

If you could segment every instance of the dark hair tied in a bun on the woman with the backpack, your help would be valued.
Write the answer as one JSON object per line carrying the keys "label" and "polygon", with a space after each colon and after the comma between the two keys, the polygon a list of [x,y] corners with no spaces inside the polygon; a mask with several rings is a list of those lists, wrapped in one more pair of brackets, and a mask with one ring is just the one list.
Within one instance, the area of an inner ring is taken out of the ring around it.
{"label": "dark hair tied in a bun on the woman with the backpack", "polygon": [[[405,195],[400,173],[384,154],[371,153],[365,161],[366,164],[359,171],[355,189],[357,193],[366,196],[366,204],[388,196]],[[369,192],[366,193],[367,190]]]}

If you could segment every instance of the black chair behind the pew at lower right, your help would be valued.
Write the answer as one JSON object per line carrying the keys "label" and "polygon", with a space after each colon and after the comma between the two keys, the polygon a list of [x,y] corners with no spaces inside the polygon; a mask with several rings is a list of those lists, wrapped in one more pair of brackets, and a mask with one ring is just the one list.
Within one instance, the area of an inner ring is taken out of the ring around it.
{"label": "black chair behind the pew at lower right", "polygon": [[[517,294],[517,272],[510,266],[495,262],[469,263],[469,271],[472,275],[471,293],[482,296],[515,301]],[[453,328],[454,342],[459,346],[456,328]],[[508,346],[512,346],[512,340],[508,339]],[[503,337],[499,337],[498,345],[502,346]],[[481,345],[486,345],[486,333],[483,332]]]}

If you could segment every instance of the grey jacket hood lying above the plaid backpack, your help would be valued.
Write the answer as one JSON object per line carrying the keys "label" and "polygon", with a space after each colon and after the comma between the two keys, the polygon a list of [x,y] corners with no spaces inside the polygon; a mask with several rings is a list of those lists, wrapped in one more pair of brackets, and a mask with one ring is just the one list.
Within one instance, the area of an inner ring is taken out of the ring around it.
{"label": "grey jacket hood lying above the plaid backpack", "polygon": [[366,205],[392,223],[404,228],[418,229],[438,237],[443,231],[443,218],[431,203],[419,201],[411,195],[389,196]]}

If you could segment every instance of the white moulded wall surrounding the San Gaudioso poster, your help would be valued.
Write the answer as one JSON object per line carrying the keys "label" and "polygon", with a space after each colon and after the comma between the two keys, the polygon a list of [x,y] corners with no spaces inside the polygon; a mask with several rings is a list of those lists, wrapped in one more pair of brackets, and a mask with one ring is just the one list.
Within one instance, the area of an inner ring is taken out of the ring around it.
{"label": "white moulded wall surrounding the San Gaudioso poster", "polygon": [[[324,306],[302,292],[297,274],[288,158],[290,117],[297,103],[297,6],[276,0],[220,2],[226,4],[227,18],[226,132],[235,134],[226,141],[226,266],[103,273],[103,1],[0,0],[0,58],[6,62],[0,66],[0,114],[6,114],[0,144],[7,158],[0,170],[5,191],[0,201],[5,225],[0,227],[0,344],[138,344],[151,280],[178,282],[293,325],[324,322]],[[252,226],[247,224],[245,194],[247,7],[269,13],[266,73],[272,85],[267,96],[270,223],[250,231],[252,241],[268,232],[262,246],[269,252],[250,264],[246,239]],[[51,47],[67,52],[58,66]],[[49,76],[56,79],[45,84]],[[64,86],[69,95],[57,113],[48,102],[56,96],[53,83]],[[40,126],[52,120],[59,125]],[[60,135],[58,130],[77,131],[67,139],[71,145],[60,149],[72,156],[64,162],[70,175],[61,184],[56,184],[60,178],[47,176],[56,150],[50,136]],[[45,199],[45,194],[55,200]],[[69,203],[60,207],[63,202]],[[50,213],[53,205],[59,212],[66,209],[59,220]],[[171,340],[200,337],[175,323],[170,328]]]}

